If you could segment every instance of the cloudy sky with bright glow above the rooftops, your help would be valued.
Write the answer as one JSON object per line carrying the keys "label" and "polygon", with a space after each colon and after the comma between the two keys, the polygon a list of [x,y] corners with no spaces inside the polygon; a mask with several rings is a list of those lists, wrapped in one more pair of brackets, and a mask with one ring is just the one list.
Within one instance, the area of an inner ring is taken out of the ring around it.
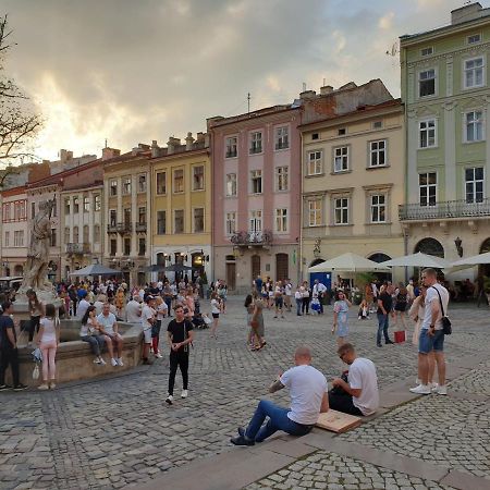
{"label": "cloudy sky with bright glow above the rooftops", "polygon": [[[489,7],[488,1],[480,2]],[[0,0],[7,72],[45,120],[39,158],[101,155],[206,131],[206,118],[381,78],[400,96],[399,36],[464,0]]]}

